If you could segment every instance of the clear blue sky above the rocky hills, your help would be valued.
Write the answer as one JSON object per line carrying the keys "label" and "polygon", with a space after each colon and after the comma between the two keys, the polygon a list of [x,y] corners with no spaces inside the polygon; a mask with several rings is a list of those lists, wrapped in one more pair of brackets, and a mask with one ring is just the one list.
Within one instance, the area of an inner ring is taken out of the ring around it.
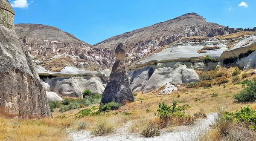
{"label": "clear blue sky above the rocky hills", "polygon": [[58,27],[95,44],[109,37],[196,12],[208,22],[256,26],[256,0],[9,0],[16,23]]}

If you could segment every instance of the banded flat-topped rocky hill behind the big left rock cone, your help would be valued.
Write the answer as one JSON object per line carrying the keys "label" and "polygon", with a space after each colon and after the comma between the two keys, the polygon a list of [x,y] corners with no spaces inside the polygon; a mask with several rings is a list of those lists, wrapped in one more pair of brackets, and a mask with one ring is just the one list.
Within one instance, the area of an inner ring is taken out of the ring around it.
{"label": "banded flat-topped rocky hill behind the big left rock cone", "polygon": [[93,48],[70,33],[41,24],[16,24],[15,30],[34,62],[52,71],[65,66],[85,70],[112,66],[113,53],[109,49]]}

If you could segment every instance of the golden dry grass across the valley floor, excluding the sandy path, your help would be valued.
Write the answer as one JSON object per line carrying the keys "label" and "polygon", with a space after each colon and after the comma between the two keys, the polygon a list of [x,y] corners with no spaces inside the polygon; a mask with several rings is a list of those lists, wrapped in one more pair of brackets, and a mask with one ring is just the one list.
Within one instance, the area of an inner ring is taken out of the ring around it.
{"label": "golden dry grass across the valley floor, excluding the sandy path", "polygon": [[[109,113],[103,113],[97,116],[86,116],[84,118],[75,119],[75,114],[81,109],[74,109],[67,112],[53,112],[54,119],[43,119],[40,121],[32,120],[6,120],[0,118],[0,140],[20,140],[20,141],[58,141],[65,140],[68,137],[66,129],[86,129],[95,131],[98,125],[105,125],[113,128],[115,131],[120,127],[129,125],[129,132],[142,132],[148,127],[150,123],[155,125],[161,125],[161,128],[166,130],[171,129],[174,126],[180,125],[180,121],[174,120],[167,125],[164,125],[159,116],[155,116],[157,113],[158,103],[166,103],[172,105],[173,101],[178,102],[178,106],[189,104],[191,108],[185,110],[186,115],[194,115],[195,113],[205,114],[216,112],[218,107],[225,107],[227,111],[235,112],[241,107],[245,107],[247,104],[238,104],[234,102],[233,95],[244,88],[242,85],[233,85],[231,73],[235,68],[224,69],[222,68],[218,75],[227,76],[228,83],[220,85],[212,85],[210,88],[186,88],[186,86],[180,86],[175,92],[170,95],[157,95],[162,88],[156,89],[147,94],[138,92],[135,96],[136,101],[122,106],[118,110],[111,111]],[[242,78],[244,73],[251,74],[252,70],[239,74],[240,81],[245,79],[253,79],[256,74],[248,75],[247,78]],[[217,75],[216,72],[198,72],[199,75],[209,73]],[[215,74],[216,73],[216,74]],[[218,94],[218,97],[212,97],[212,93]],[[180,95],[179,98],[177,95]],[[201,99],[195,101],[195,98]],[[143,99],[143,100],[140,100]],[[142,101],[142,102],[141,102]],[[98,104],[91,105],[98,106]],[[256,104],[250,104],[252,109],[256,109]],[[56,110],[57,111],[57,110]],[[118,114],[116,114],[116,112]],[[131,113],[131,115],[124,115],[124,113]],[[58,116],[65,115],[67,118],[56,118]],[[204,118],[203,114],[202,118]],[[86,126],[81,128],[81,122],[86,122]],[[183,123],[188,123],[184,121]],[[112,132],[112,131],[111,131]],[[110,132],[110,133],[111,133]],[[218,134],[214,130],[211,134]],[[58,135],[58,136],[56,136]]]}

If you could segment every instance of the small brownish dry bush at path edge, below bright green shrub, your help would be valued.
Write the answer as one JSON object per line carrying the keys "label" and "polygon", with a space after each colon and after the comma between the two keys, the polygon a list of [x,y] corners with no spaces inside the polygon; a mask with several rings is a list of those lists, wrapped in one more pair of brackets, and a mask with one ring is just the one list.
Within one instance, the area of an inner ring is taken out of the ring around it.
{"label": "small brownish dry bush at path edge, below bright green shrub", "polygon": [[146,129],[143,129],[141,135],[144,138],[150,138],[154,136],[159,136],[160,135],[160,129],[156,127],[153,123],[149,123]]}

